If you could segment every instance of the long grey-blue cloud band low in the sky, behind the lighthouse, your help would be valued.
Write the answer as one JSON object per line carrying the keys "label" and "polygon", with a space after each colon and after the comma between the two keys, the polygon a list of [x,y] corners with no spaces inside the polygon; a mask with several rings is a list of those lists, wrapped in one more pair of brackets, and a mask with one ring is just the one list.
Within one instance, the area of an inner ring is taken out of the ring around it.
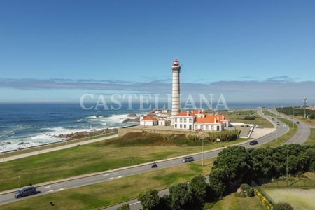
{"label": "long grey-blue cloud band low in the sky, behind the lighthouse", "polygon": [[[106,90],[170,94],[169,80],[151,78],[144,82],[124,80],[70,80],[70,79],[0,79],[0,88],[18,90]],[[233,102],[287,102],[300,100],[304,95],[309,102],[315,102],[315,81],[295,81],[288,76],[267,78],[267,80],[235,80],[214,83],[181,83],[181,94],[224,94]]]}

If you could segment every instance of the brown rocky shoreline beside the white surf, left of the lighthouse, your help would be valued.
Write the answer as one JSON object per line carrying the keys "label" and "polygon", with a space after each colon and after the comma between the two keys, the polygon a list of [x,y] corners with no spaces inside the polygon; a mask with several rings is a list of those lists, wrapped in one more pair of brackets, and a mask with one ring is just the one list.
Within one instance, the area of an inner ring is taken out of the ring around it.
{"label": "brown rocky shoreline beside the white surf, left of the lighthouse", "polygon": [[55,138],[62,138],[66,139],[66,141],[73,140],[73,139],[82,139],[86,137],[92,137],[92,136],[98,136],[102,134],[108,134],[111,132],[117,132],[117,128],[106,128],[102,130],[91,130],[90,132],[76,132],[76,133],[71,133],[71,134],[60,134],[56,136],[52,136]]}

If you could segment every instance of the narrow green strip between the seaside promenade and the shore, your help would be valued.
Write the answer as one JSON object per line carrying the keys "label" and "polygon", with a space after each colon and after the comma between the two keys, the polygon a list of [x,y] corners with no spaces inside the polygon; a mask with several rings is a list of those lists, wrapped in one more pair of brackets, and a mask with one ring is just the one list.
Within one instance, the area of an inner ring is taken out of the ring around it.
{"label": "narrow green strip between the seaside promenade and the shore", "polygon": [[48,145],[44,145],[44,146],[36,146],[34,148],[26,148],[26,149],[22,149],[20,151],[14,151],[14,152],[8,152],[5,153],[5,157],[10,157],[13,155],[20,155],[20,154],[25,154],[25,153],[30,153],[30,152],[34,152],[34,151],[39,151],[39,150],[43,150],[45,148],[54,148],[56,146],[64,146],[66,144],[73,144],[73,143],[79,143],[82,141],[88,141],[88,140],[92,140],[92,139],[98,139],[98,138],[102,138],[102,137],[109,137],[112,136],[114,134],[117,134],[117,132],[112,132],[109,134],[102,134],[102,135],[97,135],[97,136],[92,136],[90,138],[82,138],[82,139],[73,139],[73,140],[69,140],[69,141],[61,141],[61,142],[57,142],[54,144],[48,144]]}

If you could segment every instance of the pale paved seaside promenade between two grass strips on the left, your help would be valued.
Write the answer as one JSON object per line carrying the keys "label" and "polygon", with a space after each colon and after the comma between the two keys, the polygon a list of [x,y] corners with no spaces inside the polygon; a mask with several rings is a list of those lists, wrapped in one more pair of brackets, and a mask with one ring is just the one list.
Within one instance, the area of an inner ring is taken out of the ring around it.
{"label": "pale paved seaside promenade between two grass strips on the left", "polygon": [[20,154],[20,155],[13,155],[13,156],[9,156],[7,158],[2,158],[1,157],[0,162],[7,162],[7,161],[10,161],[10,160],[15,160],[15,159],[19,159],[19,158],[25,158],[25,157],[38,155],[38,154],[43,154],[43,153],[49,153],[49,152],[52,152],[52,151],[59,151],[59,150],[65,149],[65,148],[71,148],[71,147],[75,147],[75,146],[78,146],[78,145],[90,144],[90,143],[94,143],[94,142],[97,142],[97,141],[104,141],[104,140],[113,139],[113,138],[116,138],[116,137],[118,137],[118,134],[113,134],[113,135],[108,136],[108,137],[100,137],[100,138],[92,139],[92,140],[80,141],[80,142],[71,143],[71,144],[62,145],[62,146],[56,146],[56,147],[52,147],[52,148],[45,148],[45,149],[42,149],[42,150],[41,150],[40,147],[38,147],[38,151],[33,151],[33,152],[29,152],[29,153],[23,153],[23,154]]}

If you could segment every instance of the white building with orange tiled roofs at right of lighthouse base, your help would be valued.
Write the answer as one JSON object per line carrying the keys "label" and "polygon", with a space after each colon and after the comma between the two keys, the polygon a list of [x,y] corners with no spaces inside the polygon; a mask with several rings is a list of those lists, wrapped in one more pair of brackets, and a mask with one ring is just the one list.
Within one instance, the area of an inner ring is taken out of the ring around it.
{"label": "white building with orange tiled roofs at right of lighthouse base", "polygon": [[182,111],[173,116],[174,128],[186,130],[224,130],[230,126],[230,120],[223,115],[207,114],[200,109]]}

